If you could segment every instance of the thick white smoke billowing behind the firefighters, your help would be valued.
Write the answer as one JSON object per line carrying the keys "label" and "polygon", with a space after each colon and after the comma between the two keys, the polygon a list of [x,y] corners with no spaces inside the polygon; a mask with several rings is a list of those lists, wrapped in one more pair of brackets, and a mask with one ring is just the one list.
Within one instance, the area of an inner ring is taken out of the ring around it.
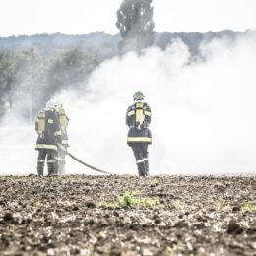
{"label": "thick white smoke billowing behind the firefighters", "polygon": [[[151,174],[255,173],[255,42],[216,39],[201,45],[203,60],[175,41],[164,51],[153,47],[105,61],[79,95],[55,96],[70,117],[70,152],[98,168],[136,174],[125,113],[141,90],[152,108]],[[29,141],[22,138],[21,144]],[[1,173],[35,173],[35,151],[16,165],[10,164],[14,152],[1,161]],[[93,173],[69,158],[67,172]]]}

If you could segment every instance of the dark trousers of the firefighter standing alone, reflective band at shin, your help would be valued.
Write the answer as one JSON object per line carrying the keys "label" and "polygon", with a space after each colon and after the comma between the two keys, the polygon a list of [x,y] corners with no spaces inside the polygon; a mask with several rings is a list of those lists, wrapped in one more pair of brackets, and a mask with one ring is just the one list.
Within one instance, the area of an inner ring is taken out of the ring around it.
{"label": "dark trousers of the firefighter standing alone, reflective band at shin", "polygon": [[149,152],[148,144],[136,143],[131,145],[136,164],[139,172],[139,176],[149,175]]}

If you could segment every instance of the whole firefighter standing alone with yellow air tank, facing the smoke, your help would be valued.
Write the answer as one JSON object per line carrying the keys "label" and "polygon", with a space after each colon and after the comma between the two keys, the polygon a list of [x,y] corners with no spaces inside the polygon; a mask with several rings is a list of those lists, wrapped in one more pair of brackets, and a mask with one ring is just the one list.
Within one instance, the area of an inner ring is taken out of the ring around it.
{"label": "whole firefighter standing alone with yellow air tank, facing the smoke", "polygon": [[127,143],[133,150],[139,176],[149,175],[148,145],[152,143],[149,129],[151,108],[144,98],[142,92],[136,92],[133,95],[134,104],[129,106],[126,112],[126,124],[129,126]]}

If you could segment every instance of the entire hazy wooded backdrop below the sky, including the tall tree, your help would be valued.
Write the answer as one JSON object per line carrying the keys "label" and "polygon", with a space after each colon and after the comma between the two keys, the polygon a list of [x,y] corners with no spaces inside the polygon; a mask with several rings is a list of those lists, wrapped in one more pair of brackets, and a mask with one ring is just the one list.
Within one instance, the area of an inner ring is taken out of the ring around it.
{"label": "entire hazy wooded backdrop below the sky, including the tall tree", "polygon": [[79,90],[105,59],[158,46],[164,50],[182,40],[192,56],[200,44],[215,38],[234,39],[256,32],[162,32],[154,31],[152,0],[123,0],[116,12],[116,35],[95,32],[82,35],[35,34],[0,38],[0,119],[19,105],[21,115],[32,118],[55,93]]}

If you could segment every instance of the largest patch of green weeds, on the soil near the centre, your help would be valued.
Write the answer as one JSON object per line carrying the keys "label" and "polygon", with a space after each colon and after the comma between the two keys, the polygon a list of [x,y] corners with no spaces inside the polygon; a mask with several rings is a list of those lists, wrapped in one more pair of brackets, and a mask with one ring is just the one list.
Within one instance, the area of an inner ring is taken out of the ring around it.
{"label": "largest patch of green weeds, on the soil near the centre", "polygon": [[102,201],[99,203],[100,207],[108,208],[153,208],[158,204],[157,198],[142,197],[139,191],[125,191],[123,195],[118,196],[115,201]]}

